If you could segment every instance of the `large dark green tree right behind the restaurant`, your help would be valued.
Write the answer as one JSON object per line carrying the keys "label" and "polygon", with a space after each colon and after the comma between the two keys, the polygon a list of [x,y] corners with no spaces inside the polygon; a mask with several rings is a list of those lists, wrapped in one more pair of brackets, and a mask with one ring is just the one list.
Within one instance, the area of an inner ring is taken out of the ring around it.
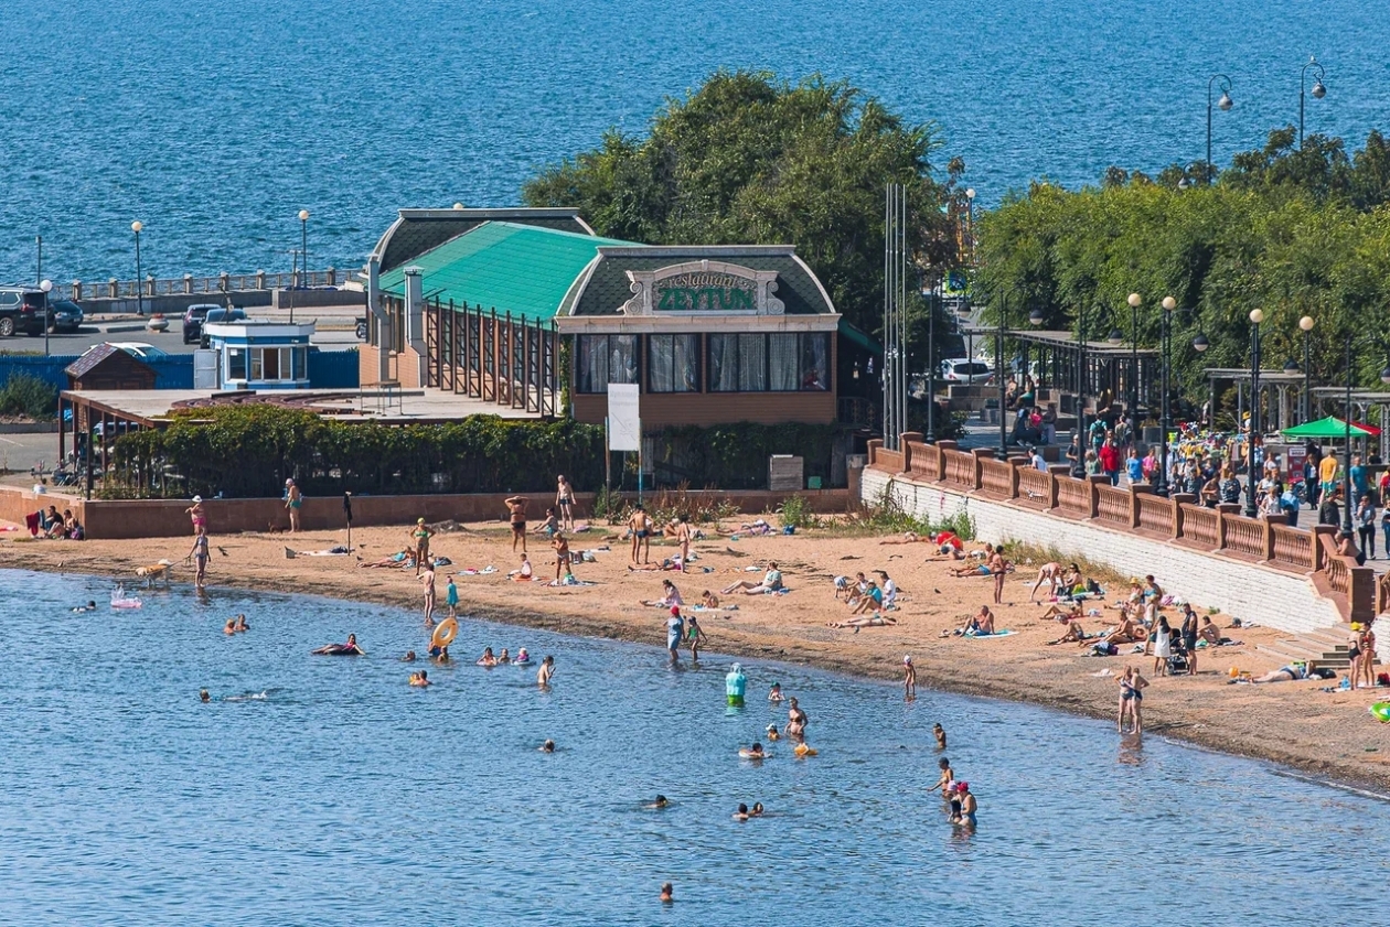
{"label": "large dark green tree right behind the restaurant", "polygon": [[671,99],[645,138],[610,129],[599,147],[542,170],[528,206],[580,210],[599,235],[648,245],[785,245],[835,307],[876,332],[883,317],[884,188],[906,186],[919,267],[955,264],[956,235],[931,174],[940,140],[844,81],[799,83],[719,71]]}

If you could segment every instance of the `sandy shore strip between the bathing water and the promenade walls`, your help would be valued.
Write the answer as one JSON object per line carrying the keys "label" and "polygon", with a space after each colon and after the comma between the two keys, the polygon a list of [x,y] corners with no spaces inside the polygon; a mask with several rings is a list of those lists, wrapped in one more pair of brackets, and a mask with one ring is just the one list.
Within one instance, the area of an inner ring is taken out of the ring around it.
{"label": "sandy shore strip between the bathing water and the promenade walls", "polygon": [[[386,548],[392,545],[399,548],[399,538],[404,535],[404,530],[368,528],[354,532],[354,539],[363,535],[373,535],[363,543],[363,555],[375,559],[373,555],[379,556],[377,550],[384,549],[379,539],[389,536],[391,543]],[[286,541],[292,541],[296,546],[307,546],[314,542],[324,542],[328,546],[338,542],[328,532],[311,532],[293,538],[289,535],[214,535],[213,571],[208,577],[208,588],[214,599],[218,588],[236,588],[288,595],[317,595],[336,600],[399,607],[404,614],[418,613],[420,592],[411,571],[345,570],[343,567],[349,566],[345,563],[345,557],[300,556],[285,559]],[[595,538],[584,538],[574,546],[581,549],[589,541],[595,541]],[[3,543],[0,545],[0,568],[104,575],[113,580],[124,578],[126,588],[136,588],[143,585],[135,578],[138,566],[154,563],[161,556],[174,560],[177,553],[168,550],[181,550],[182,543],[182,539],[174,539],[172,545],[170,539]],[[449,555],[455,564],[459,564],[461,560],[456,556],[456,550],[460,546],[484,546],[493,555],[493,561],[500,564],[507,561],[505,543],[505,528],[498,530],[493,523],[482,525],[481,530],[438,535],[434,549]],[[217,571],[217,567],[221,566],[218,561],[222,560],[215,550],[218,546],[227,549],[224,556],[228,559],[234,556],[231,552],[236,550],[235,559],[247,561],[240,564],[245,568],[239,570],[235,577],[227,577]],[[703,555],[701,561],[710,563],[717,556],[719,546],[733,550],[724,538],[696,543],[695,550]],[[1034,610],[1031,606],[1016,605],[997,609],[1002,625],[1019,630],[1019,634],[1002,641],[942,639],[937,637],[934,628],[927,628],[909,639],[903,625],[908,624],[909,617],[917,617],[913,614],[919,607],[917,596],[903,602],[901,623],[894,628],[870,628],[860,634],[833,631],[824,627],[824,621],[815,620],[809,625],[803,621],[808,617],[842,617],[844,614],[842,607],[837,607],[840,603],[830,600],[828,584],[812,575],[817,571],[817,566],[803,559],[812,553],[810,549],[826,548],[830,556],[838,555],[840,549],[859,550],[859,556],[863,556],[860,563],[841,567],[852,574],[859,568],[866,571],[873,568],[873,560],[869,557],[870,548],[881,555],[880,559],[883,559],[881,552],[884,550],[902,550],[903,548],[880,548],[876,539],[796,535],[785,539],[745,539],[737,553],[746,559],[759,556],[764,559],[767,556],[766,548],[776,548],[777,553],[784,557],[783,570],[788,585],[795,592],[788,596],[728,596],[726,602],[738,599],[738,612],[701,613],[701,624],[712,638],[706,643],[710,652],[727,653],[745,660],[766,659],[795,663],[874,681],[901,681],[902,655],[910,652],[917,664],[917,682],[923,689],[1036,705],[1073,716],[1113,721],[1115,681],[1112,677],[1095,678],[1090,673],[1104,666],[1118,673],[1126,657],[1080,657],[1070,648],[1038,646],[1037,639],[1026,639],[1038,637],[1033,628],[1048,635],[1059,634],[1061,627],[1055,623],[1040,625],[1022,618],[1023,610]],[[161,549],[164,553],[147,556],[153,552],[147,549]],[[657,559],[664,553],[670,553],[670,549],[653,550],[653,556]],[[546,573],[545,555],[539,550],[535,550],[535,570],[538,575],[542,575]],[[794,556],[796,559],[792,559]],[[673,578],[687,588],[687,602],[698,598],[701,582],[717,592],[717,585],[721,586],[726,580],[733,578],[699,573],[684,577],[678,573],[627,573],[623,568],[626,559],[626,545],[613,543],[613,550],[603,555],[603,573],[607,577],[599,580],[595,564],[584,564],[578,568],[578,575],[582,578],[594,575],[596,585],[581,588],[513,584],[506,581],[505,568],[500,566],[499,574],[495,575],[460,575],[457,580],[459,612],[477,620],[498,624],[532,627],[574,637],[648,643],[664,649],[664,616],[657,610],[637,606],[635,599],[639,595],[656,595],[655,588],[659,588],[663,577]],[[824,555],[819,559],[824,559]],[[926,564],[927,568],[944,566],[941,563]],[[439,571],[441,602],[443,602],[442,586],[453,568],[456,567],[442,567]],[[905,566],[895,563],[892,568],[895,578],[903,577],[899,578],[899,584],[905,588],[909,582],[913,589],[924,588],[917,578],[906,580],[909,574],[902,573],[906,570]],[[616,580],[612,578],[614,573],[617,574]],[[735,570],[726,573],[731,574]],[[1024,573],[1027,573],[1026,568],[1020,566],[1015,580]],[[705,575],[703,580],[702,575]],[[174,581],[186,585],[190,580],[190,571],[175,560]],[[970,588],[972,580],[937,578],[935,581],[941,585],[933,592],[941,592],[941,599],[948,598],[948,582],[965,584],[967,593],[984,592],[980,585]],[[623,598],[616,600],[613,586],[624,584],[630,589],[617,593]],[[1013,593],[1017,588],[1016,584],[1011,582],[1008,593]],[[538,596],[527,602],[517,600],[523,593],[531,592],[538,593]],[[628,596],[627,592],[631,595]],[[972,599],[974,598],[984,600],[983,595],[972,596]],[[541,602],[545,603],[543,607]],[[624,602],[630,605],[624,605]],[[788,605],[792,607],[783,607]],[[959,612],[960,606],[955,607]],[[788,616],[788,612],[794,613]],[[945,612],[951,612],[951,607],[947,607]],[[785,620],[788,617],[792,620]],[[947,627],[955,620],[955,617],[948,617],[945,625],[940,620],[934,624]],[[1094,618],[1088,620],[1087,627],[1093,623]],[[1264,635],[1259,634],[1261,631]],[[1279,637],[1277,632],[1259,628],[1243,631],[1243,635],[1247,638],[1264,637],[1265,639]],[[1369,789],[1382,798],[1390,796],[1390,725],[1373,724],[1365,710],[1365,705],[1375,700],[1375,696],[1366,692],[1318,692],[1318,687],[1311,687],[1307,682],[1273,687],[1226,687],[1222,678],[1225,673],[1213,671],[1212,663],[1219,662],[1220,666],[1225,666],[1227,657],[1212,655],[1211,650],[1202,653],[1207,663],[1200,660],[1198,666],[1204,671],[1198,677],[1161,677],[1158,680],[1150,677],[1151,682],[1155,684],[1147,692],[1151,698],[1145,705],[1148,709],[1145,712],[1145,732],[1225,755],[1270,762],[1302,776],[1330,780],[1332,785]],[[1265,668],[1277,666],[1273,657],[1258,655],[1252,649],[1233,652],[1229,659],[1245,667],[1255,663],[1268,664]],[[1145,675],[1148,675],[1151,660],[1152,657],[1137,655],[1129,657],[1129,662],[1138,666]],[[1068,671],[1069,668],[1072,671]],[[1219,689],[1216,689],[1218,685]],[[1312,702],[1309,705],[1314,699],[1326,703]],[[1223,706],[1222,702],[1227,705]],[[1295,705],[1301,707],[1301,712],[1290,710]],[[1348,723],[1350,716],[1359,716],[1365,721],[1352,725]],[[951,728],[949,719],[942,719],[942,723],[948,730]],[[1383,759],[1380,759],[1382,756]]]}

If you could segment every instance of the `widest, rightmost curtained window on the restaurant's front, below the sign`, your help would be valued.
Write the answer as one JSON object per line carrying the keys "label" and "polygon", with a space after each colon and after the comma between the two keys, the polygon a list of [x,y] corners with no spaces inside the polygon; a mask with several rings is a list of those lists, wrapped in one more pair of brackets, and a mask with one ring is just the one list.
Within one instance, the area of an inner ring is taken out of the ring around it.
{"label": "widest, rightmost curtained window on the restaurant's front, below the sign", "polygon": [[710,392],[830,389],[830,335],[710,335]]}

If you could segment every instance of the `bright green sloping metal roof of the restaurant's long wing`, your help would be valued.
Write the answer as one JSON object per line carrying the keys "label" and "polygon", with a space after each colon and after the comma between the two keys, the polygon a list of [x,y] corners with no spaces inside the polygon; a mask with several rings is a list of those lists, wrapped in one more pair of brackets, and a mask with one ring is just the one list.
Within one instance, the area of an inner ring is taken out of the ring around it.
{"label": "bright green sloping metal roof of the restaurant's long wing", "polygon": [[[425,299],[549,320],[602,246],[631,246],[594,235],[484,222],[409,261],[418,267]],[[404,267],[381,275],[381,289],[404,296]]]}

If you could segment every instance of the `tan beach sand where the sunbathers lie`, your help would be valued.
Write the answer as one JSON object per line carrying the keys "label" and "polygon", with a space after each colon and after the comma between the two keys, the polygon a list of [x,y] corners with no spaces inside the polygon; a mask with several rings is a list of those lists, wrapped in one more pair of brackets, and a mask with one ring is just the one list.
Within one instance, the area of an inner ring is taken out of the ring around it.
{"label": "tan beach sand where the sunbathers lie", "polygon": [[[215,528],[215,524],[213,525]],[[613,539],[605,541],[606,535]],[[18,541],[3,535],[0,566],[44,571],[103,574],[135,585],[135,570],[160,559],[175,563],[174,581],[192,582],[192,568],[183,557],[188,539],[145,541]],[[292,593],[316,593],[342,599],[377,602],[416,612],[421,607],[414,570],[360,568],[359,560],[374,561],[409,543],[409,530],[364,528],[353,531],[354,553],[349,556],[306,556],[303,552],[343,543],[345,532],[243,534],[211,536],[213,556],[208,585],[239,586]],[[555,575],[555,559],[543,538],[528,539],[538,577]],[[1077,714],[1111,719],[1118,703],[1113,675],[1097,678],[1109,668],[1115,675],[1126,663],[1136,666],[1151,682],[1145,691],[1145,731],[1173,737],[1207,748],[1276,760],[1302,773],[1372,788],[1390,789],[1390,725],[1380,724],[1366,707],[1377,695],[1322,692],[1323,681],[1275,685],[1229,685],[1230,667],[1257,675],[1280,662],[1261,653],[1255,645],[1286,637],[1269,628],[1225,631],[1243,641],[1241,646],[1201,650],[1197,677],[1155,677],[1152,657],[1140,655],[1088,657],[1076,645],[1047,646],[1065,630],[1056,621],[1041,621],[1045,606],[1029,605],[1036,568],[1020,564],[1005,586],[1005,603],[995,607],[997,625],[1017,634],[995,639],[941,638],[945,628],[958,627],[966,616],[992,598],[990,580],[954,578],[951,564],[926,561],[927,545],[881,546],[878,538],[835,538],[823,532],[795,536],[713,538],[694,545],[698,560],[691,573],[628,573],[628,542],[616,531],[595,528],[573,538],[571,549],[599,550],[596,563],[575,567],[575,575],[594,585],[552,588],[542,582],[513,582],[507,571],[518,557],[512,553],[506,525],[484,523],[435,536],[432,552],[448,556],[453,566],[438,570],[436,614],[445,614],[445,584],[452,573],[495,566],[496,573],[459,575],[456,582],[460,614],[513,624],[541,627],[564,634],[620,638],[644,643],[664,643],[667,612],[639,605],[662,595],[662,578],[671,578],[687,606],[699,600],[703,589],[719,589],[738,580],[759,580],[760,567],[777,560],[785,584],[792,589],[778,596],[721,596],[737,603],[737,612],[699,613],[709,635],[708,653],[805,663],[880,680],[902,678],[902,657],[910,653],[917,666],[917,684],[967,695],[987,695],[1047,705]],[[286,548],[300,552],[289,559]],[[653,545],[652,559],[676,552],[673,543]],[[702,568],[712,568],[703,573]],[[866,628],[858,634],[833,630],[827,621],[847,617],[844,603],[834,599],[831,578],[869,574],[883,568],[906,595],[892,614],[897,627]],[[1159,584],[1165,577],[1158,577]],[[1116,591],[1112,588],[1112,599]],[[76,603],[74,603],[76,605]],[[1194,603],[1202,613],[1201,603]],[[1168,610],[1176,625],[1177,610]],[[254,616],[252,616],[254,620]],[[1118,612],[1106,609],[1101,618],[1083,618],[1087,631],[1113,625]],[[1229,621],[1216,618],[1219,624]],[[343,628],[346,634],[352,628]],[[370,642],[367,642],[370,646]],[[505,643],[505,642],[499,642]],[[424,650],[425,631],[421,625]],[[1122,650],[1126,648],[1122,648]],[[473,655],[456,653],[456,659]],[[656,657],[653,659],[664,659]],[[684,659],[684,656],[682,656]],[[751,696],[762,698],[762,692]],[[941,717],[947,731],[951,719]]]}

